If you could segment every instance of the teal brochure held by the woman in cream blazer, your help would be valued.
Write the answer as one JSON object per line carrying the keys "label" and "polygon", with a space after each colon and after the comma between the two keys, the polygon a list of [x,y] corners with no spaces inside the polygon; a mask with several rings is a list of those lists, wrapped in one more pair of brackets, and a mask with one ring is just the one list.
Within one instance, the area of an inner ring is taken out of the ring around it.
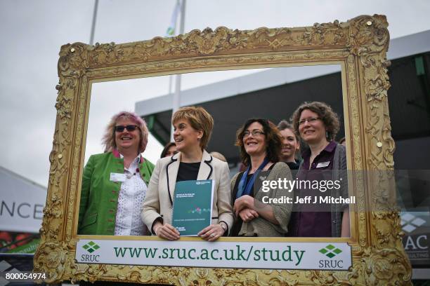
{"label": "teal brochure held by the woman in cream blazer", "polygon": [[213,200],[211,179],[176,183],[171,223],[181,236],[197,236],[211,224]]}

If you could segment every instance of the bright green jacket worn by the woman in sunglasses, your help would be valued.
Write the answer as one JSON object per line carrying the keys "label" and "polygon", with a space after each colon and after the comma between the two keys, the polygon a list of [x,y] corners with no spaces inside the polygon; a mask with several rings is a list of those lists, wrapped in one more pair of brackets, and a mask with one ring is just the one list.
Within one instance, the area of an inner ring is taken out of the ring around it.
{"label": "bright green jacket worn by the woman in sunglasses", "polygon": [[[141,156],[139,170],[148,185],[154,164]],[[115,234],[115,217],[121,182],[111,182],[110,173],[124,174],[124,159],[114,150],[92,155],[82,175],[81,203],[79,205],[78,234]]]}

